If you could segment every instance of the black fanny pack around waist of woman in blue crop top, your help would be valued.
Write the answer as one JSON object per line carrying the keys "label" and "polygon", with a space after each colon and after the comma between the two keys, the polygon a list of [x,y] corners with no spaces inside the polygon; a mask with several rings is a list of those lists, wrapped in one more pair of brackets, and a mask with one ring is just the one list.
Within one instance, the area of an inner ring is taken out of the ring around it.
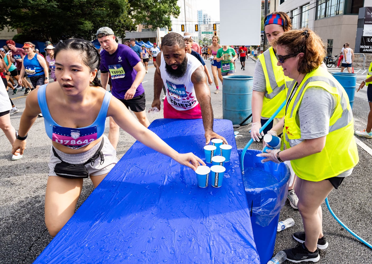
{"label": "black fanny pack around waist of woman in blue crop top", "polygon": [[103,138],[101,140],[101,144],[94,153],[93,157],[91,157],[89,160],[84,162],[83,164],[70,164],[67,162],[64,162],[60,156],[58,156],[57,152],[54,150],[54,147],[52,147],[53,154],[55,157],[61,160],[60,163],[55,164],[54,172],[60,177],[69,178],[69,179],[83,179],[87,178],[89,176],[89,172],[87,168],[85,167],[86,164],[91,163],[92,166],[94,165],[95,160],[100,156],[101,157],[101,165],[103,162],[105,162],[105,158],[103,157],[102,153],[102,147],[103,147]]}

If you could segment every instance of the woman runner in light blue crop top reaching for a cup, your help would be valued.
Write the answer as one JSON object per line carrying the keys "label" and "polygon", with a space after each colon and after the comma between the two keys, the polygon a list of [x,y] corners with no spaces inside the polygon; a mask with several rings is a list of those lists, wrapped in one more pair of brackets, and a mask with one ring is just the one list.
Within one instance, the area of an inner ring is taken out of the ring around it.
{"label": "woman runner in light blue crop top reaching for a cup", "polygon": [[[180,154],[156,134],[142,126],[129,110],[105,89],[100,88],[97,68],[100,57],[92,43],[82,39],[60,41],[55,48],[55,76],[57,82],[43,85],[30,92],[26,99],[17,139],[12,153],[17,149],[22,155],[26,136],[38,114],[42,112],[48,136],[52,139],[49,176],[45,194],[45,224],[49,234],[55,236],[74,214],[83,187],[83,179],[57,176],[57,163],[84,164],[102,144],[101,163],[85,165],[96,187],[116,164],[116,151],[105,131],[106,117],[111,116],[126,132],[148,147],[163,153],[193,170],[205,163],[192,153]],[[61,162],[61,160],[63,162]],[[75,163],[74,163],[75,161]]]}

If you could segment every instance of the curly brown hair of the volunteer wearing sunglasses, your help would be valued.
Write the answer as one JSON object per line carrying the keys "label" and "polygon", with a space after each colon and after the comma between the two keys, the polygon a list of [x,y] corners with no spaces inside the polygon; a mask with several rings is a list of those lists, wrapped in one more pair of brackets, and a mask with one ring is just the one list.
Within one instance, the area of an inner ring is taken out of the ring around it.
{"label": "curly brown hair of the volunteer wearing sunglasses", "polygon": [[274,45],[285,46],[288,53],[301,53],[305,55],[298,62],[298,72],[306,74],[318,68],[326,55],[326,46],[323,40],[314,31],[304,27],[301,30],[284,32]]}

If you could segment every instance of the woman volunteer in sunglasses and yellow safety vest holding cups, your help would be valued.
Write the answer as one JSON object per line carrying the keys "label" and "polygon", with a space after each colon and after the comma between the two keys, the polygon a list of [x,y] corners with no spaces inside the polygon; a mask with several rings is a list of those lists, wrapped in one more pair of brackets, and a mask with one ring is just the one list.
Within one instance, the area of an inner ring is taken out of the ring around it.
{"label": "woman volunteer in sunglasses and yellow safety vest holding cups", "polygon": [[359,161],[353,114],[342,86],[320,67],[325,46],[319,36],[310,29],[292,30],[275,44],[278,65],[294,79],[288,89],[285,117],[273,127],[279,131],[284,125],[285,146],[282,151],[269,150],[257,156],[266,157],[263,162],[291,160],[299,178],[295,191],[305,232],[293,235],[302,244],[284,251],[289,261],[316,262],[320,259],[318,248],[328,247],[320,205]]}

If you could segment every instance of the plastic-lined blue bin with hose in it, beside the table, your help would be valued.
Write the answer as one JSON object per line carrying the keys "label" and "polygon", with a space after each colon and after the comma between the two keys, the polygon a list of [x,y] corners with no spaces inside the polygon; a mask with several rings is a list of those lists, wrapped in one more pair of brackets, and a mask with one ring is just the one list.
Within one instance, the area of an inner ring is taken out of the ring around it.
{"label": "plastic-lined blue bin with hose in it, beside the table", "polygon": [[[238,149],[239,156],[242,149]],[[261,263],[273,255],[279,212],[288,193],[291,172],[285,163],[261,163],[259,150],[248,149],[244,155],[243,183],[253,230],[254,243]]]}

